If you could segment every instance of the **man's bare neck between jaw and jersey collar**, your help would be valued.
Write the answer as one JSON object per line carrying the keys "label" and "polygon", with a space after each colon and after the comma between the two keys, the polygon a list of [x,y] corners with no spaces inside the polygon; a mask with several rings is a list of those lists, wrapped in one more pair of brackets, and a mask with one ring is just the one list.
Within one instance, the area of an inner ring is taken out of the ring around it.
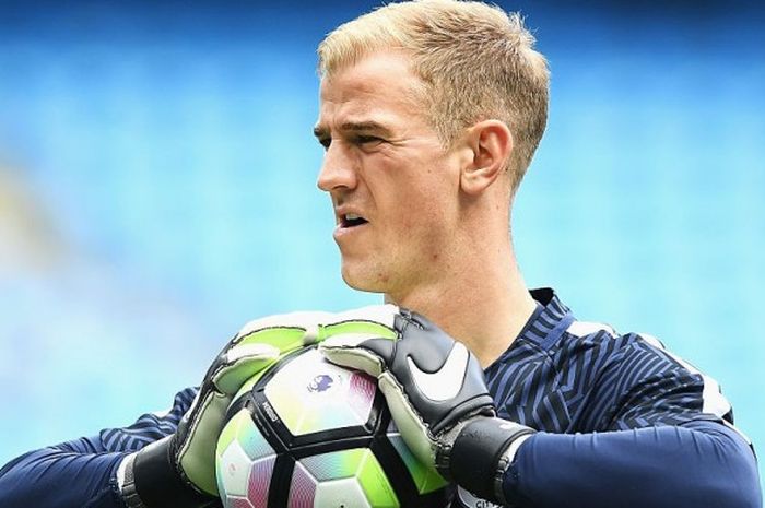
{"label": "man's bare neck between jaw and jersey collar", "polygon": [[515,341],[536,304],[509,238],[494,249],[480,244],[471,244],[470,251],[459,255],[432,284],[386,295],[386,300],[426,316],[468,346],[485,368]]}

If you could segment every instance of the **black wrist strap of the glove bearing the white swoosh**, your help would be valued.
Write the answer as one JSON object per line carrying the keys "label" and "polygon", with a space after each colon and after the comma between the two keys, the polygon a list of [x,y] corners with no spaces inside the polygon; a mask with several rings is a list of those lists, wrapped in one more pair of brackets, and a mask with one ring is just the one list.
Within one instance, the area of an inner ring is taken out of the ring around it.
{"label": "black wrist strap of the glove bearing the white swoosh", "polygon": [[449,475],[476,496],[502,503],[502,481],[510,460],[507,451],[515,441],[534,433],[502,418],[470,420],[451,447]]}

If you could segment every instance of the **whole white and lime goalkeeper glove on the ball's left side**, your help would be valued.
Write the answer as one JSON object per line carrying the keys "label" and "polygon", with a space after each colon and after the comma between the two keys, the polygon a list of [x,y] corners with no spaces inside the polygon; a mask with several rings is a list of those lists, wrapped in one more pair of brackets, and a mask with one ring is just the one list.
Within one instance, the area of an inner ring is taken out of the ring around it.
{"label": "whole white and lime goalkeeper glove on the ball's left side", "polygon": [[239,388],[281,355],[314,344],[341,323],[329,312],[251,321],[210,366],[175,434],[129,456],[120,491],[129,508],[203,507],[216,501],[215,444]]}

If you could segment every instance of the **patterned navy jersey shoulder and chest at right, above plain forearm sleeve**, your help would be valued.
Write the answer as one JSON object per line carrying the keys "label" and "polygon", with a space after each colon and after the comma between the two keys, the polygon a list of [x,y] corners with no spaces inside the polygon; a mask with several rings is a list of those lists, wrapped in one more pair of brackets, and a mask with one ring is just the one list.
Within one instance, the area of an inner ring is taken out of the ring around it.
{"label": "patterned navy jersey shoulder and chest at right, above plain forearm sleeve", "polygon": [[501,417],[558,434],[733,424],[717,382],[657,339],[578,321],[552,290],[532,295],[537,311],[485,370]]}

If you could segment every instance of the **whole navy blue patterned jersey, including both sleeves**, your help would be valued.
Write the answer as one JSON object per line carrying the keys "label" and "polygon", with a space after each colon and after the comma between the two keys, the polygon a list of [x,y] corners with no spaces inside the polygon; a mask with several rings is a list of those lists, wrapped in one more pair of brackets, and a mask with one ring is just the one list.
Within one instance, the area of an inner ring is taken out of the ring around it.
{"label": "whole navy blue patterned jersey, including both sleeves", "polygon": [[[511,506],[762,506],[750,444],[714,380],[649,335],[576,320],[552,290],[532,295],[537,311],[485,370],[498,415],[539,430],[505,474]],[[0,506],[121,507],[119,463],[172,434],[195,394],[186,389],[167,413],[129,427],[15,459],[0,471]],[[454,506],[493,505],[460,489]]]}

